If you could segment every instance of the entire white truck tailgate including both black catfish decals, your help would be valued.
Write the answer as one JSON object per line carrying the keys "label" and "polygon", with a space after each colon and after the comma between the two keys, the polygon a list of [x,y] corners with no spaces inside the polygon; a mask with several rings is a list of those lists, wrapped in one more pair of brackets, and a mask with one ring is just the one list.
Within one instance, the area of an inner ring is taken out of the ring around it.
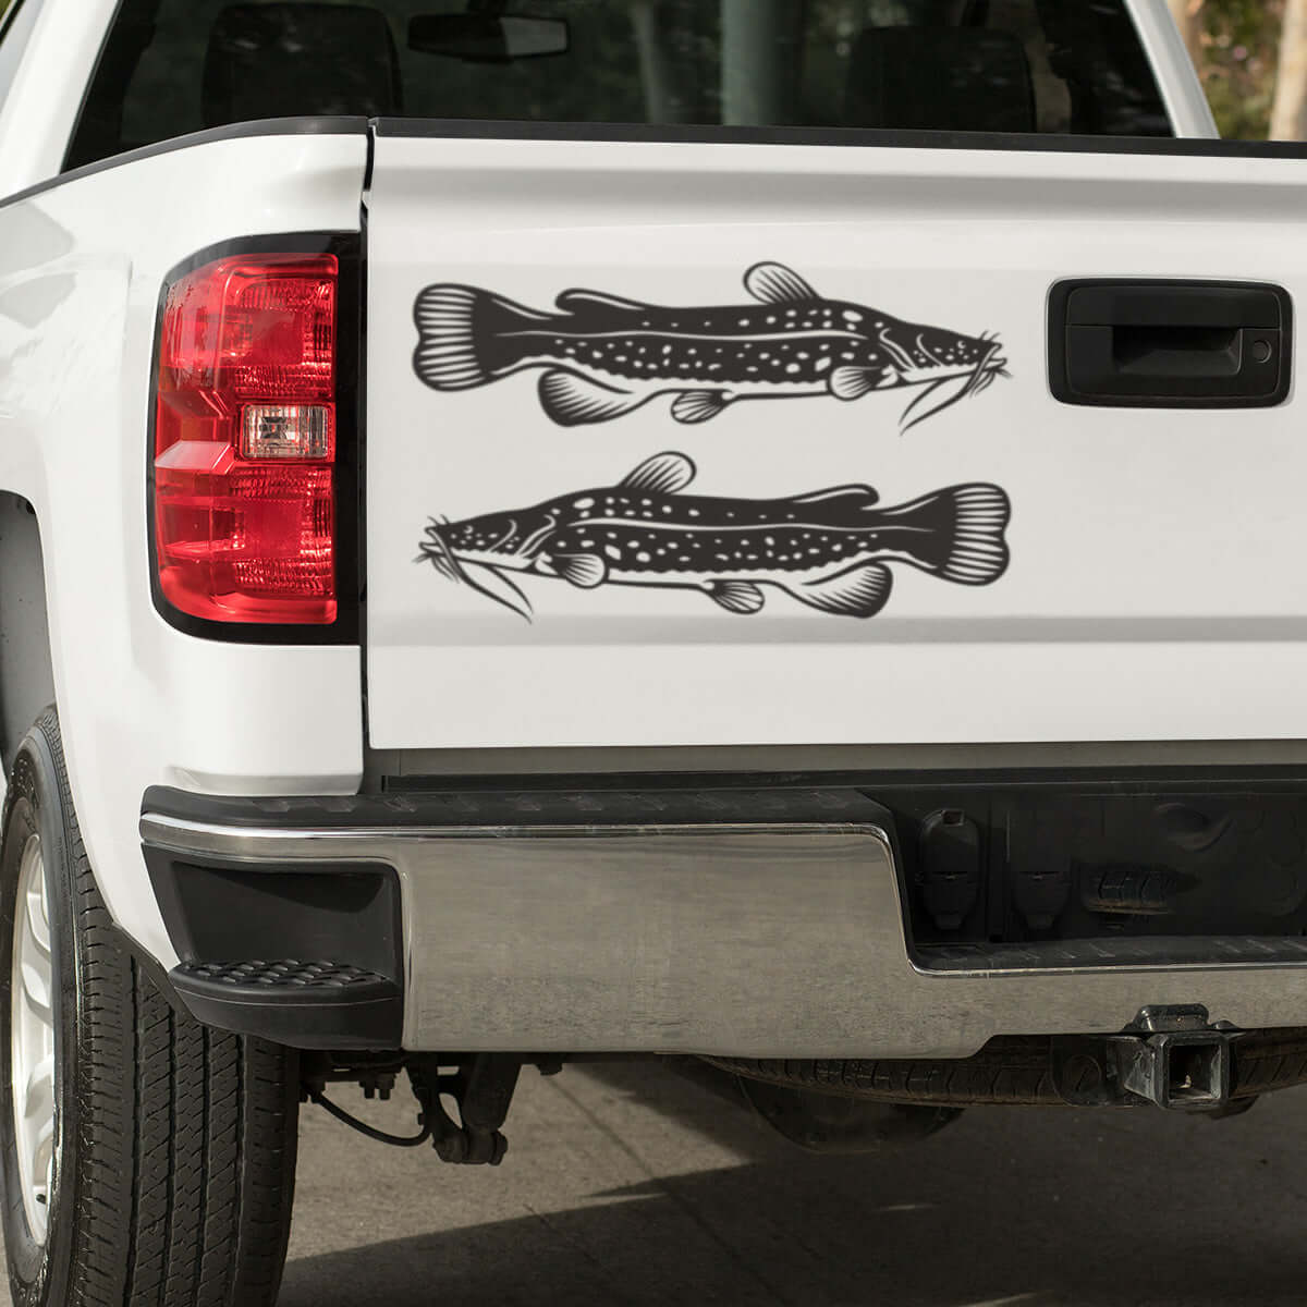
{"label": "entire white truck tailgate including both black catfish decals", "polygon": [[1050,384],[1069,278],[1297,297],[1307,163],[1108,150],[383,123],[370,742],[1307,737],[1297,396]]}

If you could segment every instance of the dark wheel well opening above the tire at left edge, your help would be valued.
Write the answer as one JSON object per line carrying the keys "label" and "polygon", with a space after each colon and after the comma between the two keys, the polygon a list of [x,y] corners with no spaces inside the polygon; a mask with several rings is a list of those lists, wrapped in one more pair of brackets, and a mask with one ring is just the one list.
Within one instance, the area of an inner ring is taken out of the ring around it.
{"label": "dark wheel well opening above the tire at left edge", "polygon": [[54,702],[41,525],[26,499],[0,491],[0,753],[7,775],[18,741]]}

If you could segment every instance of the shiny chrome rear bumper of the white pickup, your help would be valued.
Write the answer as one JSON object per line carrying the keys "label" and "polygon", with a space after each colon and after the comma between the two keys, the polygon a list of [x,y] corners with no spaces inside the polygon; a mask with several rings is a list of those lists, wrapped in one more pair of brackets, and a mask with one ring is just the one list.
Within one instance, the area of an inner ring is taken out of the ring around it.
{"label": "shiny chrome rear bumper of the white pickup", "polygon": [[248,873],[392,868],[413,1051],[963,1057],[995,1035],[1111,1034],[1142,1008],[1191,1004],[1243,1029],[1307,1026],[1302,951],[927,971],[874,822],[363,826],[269,812],[225,825],[146,809],[141,836],[156,859]]}

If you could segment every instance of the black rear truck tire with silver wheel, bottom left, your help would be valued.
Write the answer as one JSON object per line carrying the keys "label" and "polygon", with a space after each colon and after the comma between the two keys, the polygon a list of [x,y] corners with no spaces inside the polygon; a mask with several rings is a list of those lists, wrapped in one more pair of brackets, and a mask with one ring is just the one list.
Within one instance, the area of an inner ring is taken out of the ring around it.
{"label": "black rear truck tire with silver wheel, bottom left", "polygon": [[52,708],[18,746],[5,796],[0,980],[14,1307],[272,1307],[290,1231],[297,1059],[201,1026],[123,948],[82,848]]}

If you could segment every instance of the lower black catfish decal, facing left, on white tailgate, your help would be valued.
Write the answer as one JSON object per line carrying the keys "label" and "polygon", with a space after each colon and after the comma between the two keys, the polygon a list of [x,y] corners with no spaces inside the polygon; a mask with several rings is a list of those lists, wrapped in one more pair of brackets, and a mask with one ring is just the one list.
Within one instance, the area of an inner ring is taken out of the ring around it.
{"label": "lower black catfish decal, facing left, on white tailgate", "polygon": [[715,499],[682,493],[694,477],[684,454],[657,454],[616,486],[463,521],[433,519],[417,562],[528,621],[531,601],[514,572],[580,589],[695,589],[740,614],[761,612],[770,586],[823,613],[874,617],[890,597],[890,565],[959,586],[989,586],[1008,567],[1012,508],[995,485],[880,508],[865,485]]}

